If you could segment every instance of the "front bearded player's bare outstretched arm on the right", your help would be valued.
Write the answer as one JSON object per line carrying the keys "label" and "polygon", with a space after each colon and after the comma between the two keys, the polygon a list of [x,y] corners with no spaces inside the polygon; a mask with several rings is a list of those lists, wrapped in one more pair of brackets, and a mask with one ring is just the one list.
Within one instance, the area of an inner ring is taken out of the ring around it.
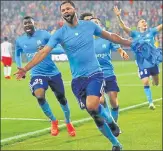
{"label": "front bearded player's bare outstretched arm on the right", "polygon": [[103,30],[101,33],[101,38],[104,38],[106,40],[110,40],[116,44],[122,44],[124,46],[131,46],[131,40],[124,39],[120,37],[119,35],[115,33],[108,32],[106,30]]}

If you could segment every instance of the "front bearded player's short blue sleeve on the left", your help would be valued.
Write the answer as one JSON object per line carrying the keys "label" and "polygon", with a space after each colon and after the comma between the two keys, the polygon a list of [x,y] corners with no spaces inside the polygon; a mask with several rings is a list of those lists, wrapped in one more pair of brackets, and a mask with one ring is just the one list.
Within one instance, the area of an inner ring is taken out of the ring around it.
{"label": "front bearded player's short blue sleeve on the left", "polygon": [[53,35],[51,35],[46,46],[51,47],[52,49],[57,46],[57,44],[61,43],[62,30],[57,30]]}

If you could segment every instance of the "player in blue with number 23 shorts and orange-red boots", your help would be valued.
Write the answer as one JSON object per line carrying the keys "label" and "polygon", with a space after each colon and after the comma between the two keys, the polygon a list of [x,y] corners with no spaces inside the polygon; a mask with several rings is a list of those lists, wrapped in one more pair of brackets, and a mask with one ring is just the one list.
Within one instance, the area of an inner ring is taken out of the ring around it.
{"label": "player in blue with number 23 shorts and orange-red boots", "polygon": [[[28,61],[30,61],[38,51],[45,46],[51,37],[50,33],[46,30],[36,30],[34,26],[34,20],[30,16],[26,16],[23,19],[25,34],[18,37],[15,44],[15,60],[19,68],[21,68],[21,53],[25,53]],[[59,46],[58,46],[59,47]],[[54,48],[55,49],[61,49]],[[51,59],[51,54],[42,60],[38,65],[31,69],[31,81],[30,89],[32,94],[38,100],[38,103],[45,113],[45,115],[51,120],[51,135],[56,136],[59,133],[58,120],[52,113],[47,99],[45,98],[45,92],[50,86],[54,92],[57,100],[65,115],[65,122],[67,131],[70,136],[75,136],[75,129],[70,121],[70,109],[67,99],[65,98],[65,90],[61,73]]]}

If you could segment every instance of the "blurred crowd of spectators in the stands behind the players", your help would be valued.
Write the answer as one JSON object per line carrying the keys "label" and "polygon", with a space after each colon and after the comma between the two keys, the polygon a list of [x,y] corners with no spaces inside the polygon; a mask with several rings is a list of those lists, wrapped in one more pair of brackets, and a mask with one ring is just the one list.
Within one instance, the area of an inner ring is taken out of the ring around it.
{"label": "blurred crowd of spectators in the stands behind the players", "polygon": [[[36,26],[53,31],[64,22],[61,19],[59,6],[61,1],[1,1],[1,38],[7,36],[14,43],[17,36],[23,33],[22,19],[29,15],[35,19]],[[102,20],[107,30],[122,37],[129,38],[119,27],[113,12],[116,5],[122,9],[122,19],[132,29],[137,29],[139,19],[144,18],[149,27],[162,23],[162,1],[75,1],[78,16],[91,12]],[[162,46],[162,32],[156,37]]]}

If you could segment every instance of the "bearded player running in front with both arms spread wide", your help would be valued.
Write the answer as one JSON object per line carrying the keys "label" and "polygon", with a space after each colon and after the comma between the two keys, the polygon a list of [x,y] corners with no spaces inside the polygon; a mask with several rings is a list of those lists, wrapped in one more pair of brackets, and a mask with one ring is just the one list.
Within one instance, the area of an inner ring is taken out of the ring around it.
{"label": "bearded player running in front with both arms spread wide", "polygon": [[[111,40],[115,43],[131,46],[130,40],[124,39],[117,34],[102,30],[98,25],[90,21],[78,20],[76,8],[72,1],[64,1],[60,5],[60,12],[65,20],[65,25],[58,29],[50,38],[47,45],[40,50],[33,59],[15,73],[16,78],[22,78],[27,71],[41,62],[57,45],[61,44],[68,56],[72,73],[72,91],[76,96],[80,107],[86,109],[94,119],[98,129],[110,140],[112,150],[122,148],[120,142],[112,134],[119,127],[110,118],[100,105],[100,90],[103,83],[103,73],[94,51],[93,35]],[[108,124],[114,128],[110,130]],[[115,134],[115,133],[114,133]]]}

